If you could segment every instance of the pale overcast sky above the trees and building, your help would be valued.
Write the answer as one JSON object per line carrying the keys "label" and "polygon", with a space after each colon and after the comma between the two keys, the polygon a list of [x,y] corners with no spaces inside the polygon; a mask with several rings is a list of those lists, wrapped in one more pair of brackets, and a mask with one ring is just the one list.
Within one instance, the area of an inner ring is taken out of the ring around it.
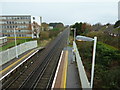
{"label": "pale overcast sky above the trees and building", "polygon": [[[8,2],[9,1],[9,2]],[[25,2],[26,1],[26,2]],[[42,16],[43,21],[115,23],[118,20],[119,0],[4,0],[0,14],[31,14]],[[1,12],[2,10],[2,12]]]}

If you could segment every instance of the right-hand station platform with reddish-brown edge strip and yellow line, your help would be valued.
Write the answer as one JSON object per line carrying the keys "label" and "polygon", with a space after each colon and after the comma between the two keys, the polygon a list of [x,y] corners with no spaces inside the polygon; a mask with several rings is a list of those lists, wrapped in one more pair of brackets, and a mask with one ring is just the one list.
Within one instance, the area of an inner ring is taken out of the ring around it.
{"label": "right-hand station platform with reddish-brown edge strip and yellow line", "polygon": [[61,53],[52,88],[81,88],[77,65],[73,59],[72,48],[64,48]]}

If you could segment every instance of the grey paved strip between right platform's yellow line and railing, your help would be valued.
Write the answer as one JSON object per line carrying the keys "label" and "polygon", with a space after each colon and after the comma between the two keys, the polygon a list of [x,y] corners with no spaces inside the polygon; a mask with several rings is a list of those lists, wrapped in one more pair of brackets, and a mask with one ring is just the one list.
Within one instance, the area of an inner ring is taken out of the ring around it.
{"label": "grey paved strip between right platform's yellow line and railing", "polygon": [[66,88],[81,88],[80,78],[78,74],[77,65],[73,62],[72,47],[67,47],[68,50],[68,72]]}

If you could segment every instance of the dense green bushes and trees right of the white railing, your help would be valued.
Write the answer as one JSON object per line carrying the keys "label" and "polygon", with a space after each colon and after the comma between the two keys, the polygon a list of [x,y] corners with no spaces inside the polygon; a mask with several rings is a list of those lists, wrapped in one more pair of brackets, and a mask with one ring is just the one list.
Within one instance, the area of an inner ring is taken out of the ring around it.
{"label": "dense green bushes and trees right of the white railing", "polygon": [[[77,29],[77,35],[84,35],[88,37],[98,37],[96,62],[95,62],[95,76],[94,88],[109,88],[110,90],[120,89],[120,44],[119,36],[111,36],[109,33],[119,34],[119,28],[113,28],[117,25],[89,25],[86,29],[82,28],[83,23],[76,23],[72,28]],[[71,31],[73,36],[73,31]],[[83,60],[83,65],[90,81],[93,42],[78,42],[76,41],[79,53]]]}

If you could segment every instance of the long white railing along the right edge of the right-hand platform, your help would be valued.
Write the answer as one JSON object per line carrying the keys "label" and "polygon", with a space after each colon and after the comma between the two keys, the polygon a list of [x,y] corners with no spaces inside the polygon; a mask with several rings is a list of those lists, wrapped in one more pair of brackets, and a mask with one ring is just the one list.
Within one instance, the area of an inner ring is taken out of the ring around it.
{"label": "long white railing along the right edge of the right-hand platform", "polygon": [[79,54],[78,49],[77,49],[77,45],[74,41],[73,41],[73,49],[74,49],[74,53],[76,56],[76,62],[77,62],[77,66],[78,66],[78,72],[79,72],[79,77],[81,80],[82,88],[83,89],[89,88],[91,90],[90,83],[88,81],[83,63],[81,61],[80,54]]}

